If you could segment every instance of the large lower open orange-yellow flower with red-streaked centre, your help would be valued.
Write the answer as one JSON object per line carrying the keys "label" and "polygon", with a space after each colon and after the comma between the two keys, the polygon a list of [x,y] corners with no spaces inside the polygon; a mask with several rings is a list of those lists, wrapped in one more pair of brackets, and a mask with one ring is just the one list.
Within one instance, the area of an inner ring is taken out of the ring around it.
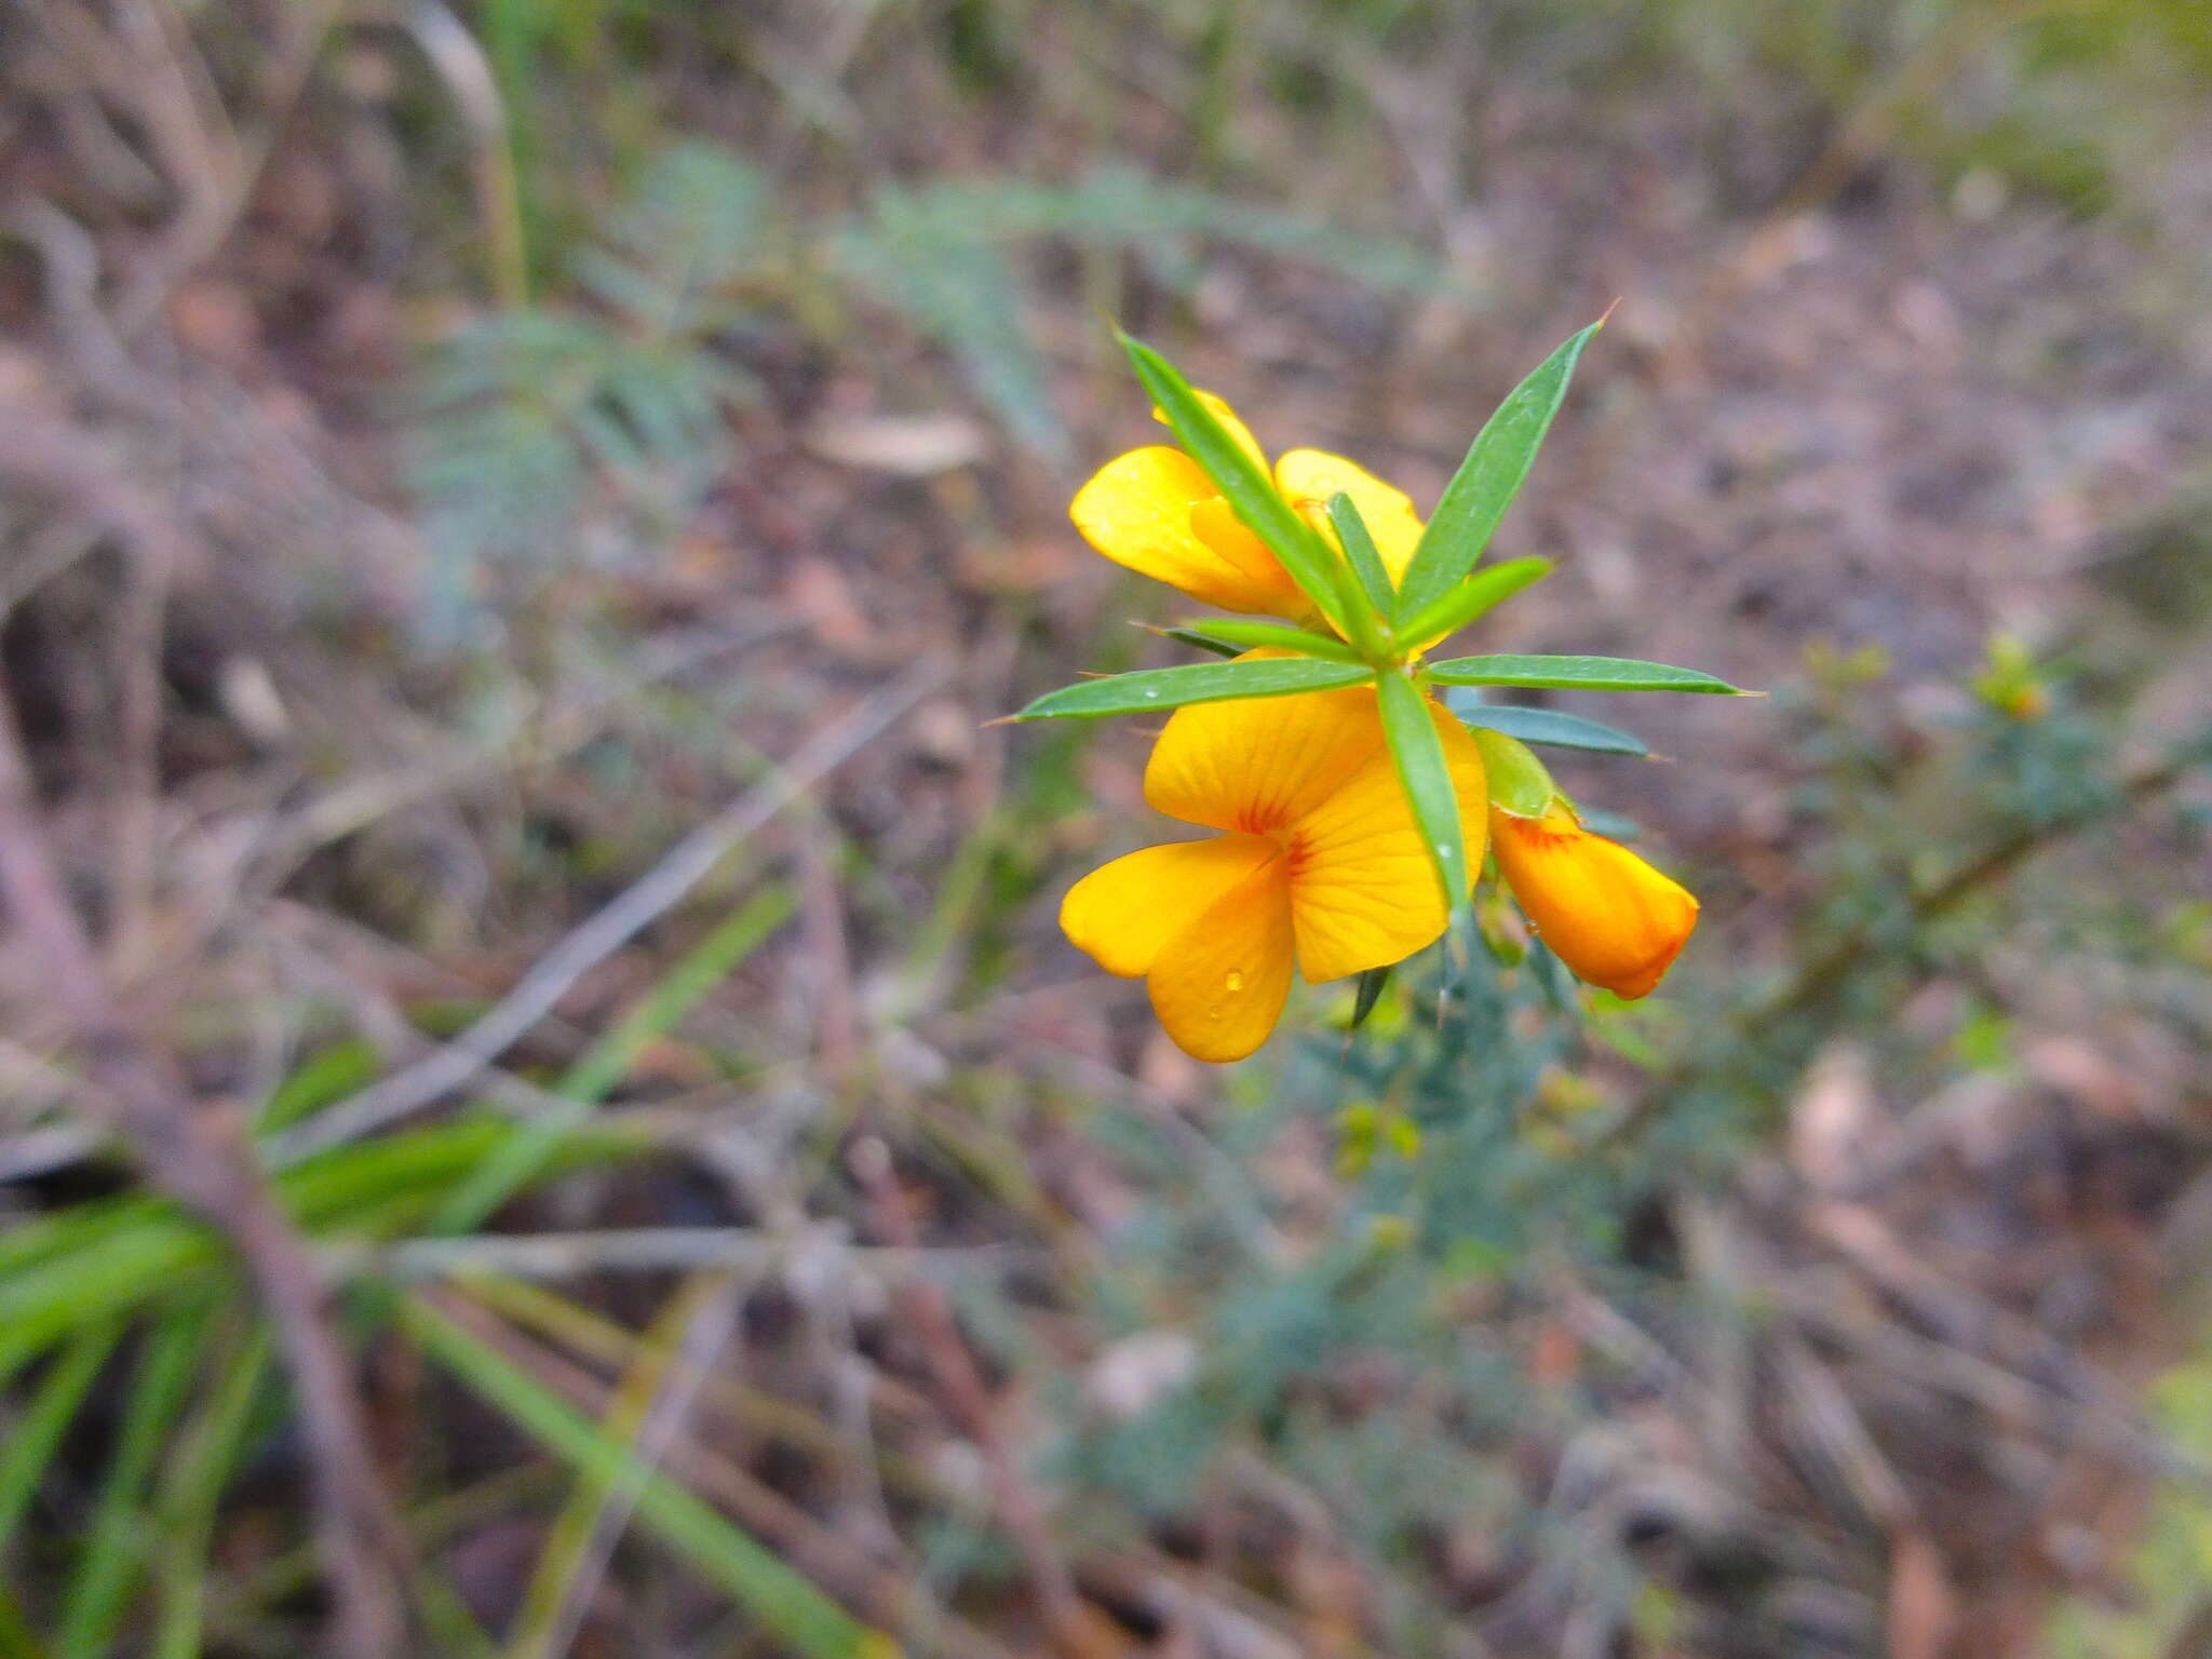
{"label": "large lower open orange-yellow flower with red-streaked centre", "polygon": [[[1482,754],[1431,708],[1482,867]],[[1274,1031],[1292,969],[1310,982],[1402,962],[1444,931],[1444,896],[1369,686],[1179,708],[1144,799],[1223,834],[1091,872],[1060,927],[1121,978],[1194,1060],[1243,1060]]]}

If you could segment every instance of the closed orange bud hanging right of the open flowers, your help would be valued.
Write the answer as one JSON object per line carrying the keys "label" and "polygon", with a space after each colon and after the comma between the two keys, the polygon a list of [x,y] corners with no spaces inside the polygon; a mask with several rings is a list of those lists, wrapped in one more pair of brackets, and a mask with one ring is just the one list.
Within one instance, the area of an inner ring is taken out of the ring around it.
{"label": "closed orange bud hanging right of the open flowers", "polygon": [[1697,927],[1697,898],[1628,847],[1553,805],[1542,818],[1491,810],[1498,869],[1544,942],[1590,984],[1639,998]]}

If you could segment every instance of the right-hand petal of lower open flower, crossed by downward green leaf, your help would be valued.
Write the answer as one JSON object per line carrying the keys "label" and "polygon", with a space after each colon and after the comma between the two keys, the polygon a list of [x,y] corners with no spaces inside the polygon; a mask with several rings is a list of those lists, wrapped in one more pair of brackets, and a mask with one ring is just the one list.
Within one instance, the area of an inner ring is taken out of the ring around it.
{"label": "right-hand petal of lower open flower, crossed by downward green leaf", "polygon": [[[1460,796],[1467,867],[1482,869],[1482,752],[1451,714],[1431,708],[1431,717]],[[1374,754],[1292,827],[1290,907],[1298,971],[1314,984],[1402,962],[1444,931],[1436,865],[1420,843],[1389,750]]]}

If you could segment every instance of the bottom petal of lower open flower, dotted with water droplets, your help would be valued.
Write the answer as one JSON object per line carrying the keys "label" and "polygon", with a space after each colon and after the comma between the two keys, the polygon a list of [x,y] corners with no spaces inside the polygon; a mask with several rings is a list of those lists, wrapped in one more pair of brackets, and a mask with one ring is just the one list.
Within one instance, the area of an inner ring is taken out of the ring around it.
{"label": "bottom petal of lower open flower, dotted with water droplets", "polygon": [[1283,1015],[1294,956],[1285,869],[1283,858],[1254,869],[1152,962],[1152,1013],[1192,1060],[1243,1060]]}

